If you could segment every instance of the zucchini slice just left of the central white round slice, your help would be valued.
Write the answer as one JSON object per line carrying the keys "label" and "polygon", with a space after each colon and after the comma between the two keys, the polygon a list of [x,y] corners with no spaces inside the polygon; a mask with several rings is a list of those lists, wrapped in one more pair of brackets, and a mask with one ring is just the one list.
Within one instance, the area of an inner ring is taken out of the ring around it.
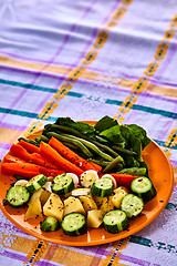
{"label": "zucchini slice just left of the central white round slice", "polygon": [[65,195],[74,188],[74,181],[71,175],[56,175],[52,181],[52,192],[58,195]]}

